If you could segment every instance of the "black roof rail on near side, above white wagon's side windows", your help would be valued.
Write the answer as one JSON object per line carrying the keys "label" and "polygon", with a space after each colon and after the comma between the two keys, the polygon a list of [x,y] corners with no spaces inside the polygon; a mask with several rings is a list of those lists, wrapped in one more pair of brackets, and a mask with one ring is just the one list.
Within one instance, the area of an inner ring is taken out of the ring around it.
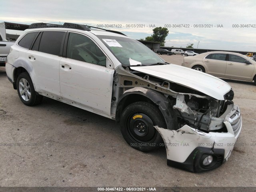
{"label": "black roof rail on near side, above white wagon's side windows", "polygon": [[50,24],[50,23],[32,23],[29,29],[34,28],[71,28],[71,29],[79,29],[83,31],[90,31],[90,29],[84,25],[75,24],[75,23],[64,23],[63,25],[58,24]]}

